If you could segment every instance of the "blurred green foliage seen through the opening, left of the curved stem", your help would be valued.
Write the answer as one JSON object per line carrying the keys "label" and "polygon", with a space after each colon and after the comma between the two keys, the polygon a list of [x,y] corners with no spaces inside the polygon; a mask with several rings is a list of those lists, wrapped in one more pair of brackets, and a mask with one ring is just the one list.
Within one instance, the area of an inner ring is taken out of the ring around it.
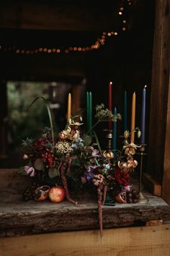
{"label": "blurred green foliage seen through the opening, left of the curved stem", "polygon": [[43,101],[32,101],[38,96],[49,98],[48,82],[7,83],[9,112],[9,143],[19,145],[27,137],[40,136],[42,128],[49,127],[48,112]]}

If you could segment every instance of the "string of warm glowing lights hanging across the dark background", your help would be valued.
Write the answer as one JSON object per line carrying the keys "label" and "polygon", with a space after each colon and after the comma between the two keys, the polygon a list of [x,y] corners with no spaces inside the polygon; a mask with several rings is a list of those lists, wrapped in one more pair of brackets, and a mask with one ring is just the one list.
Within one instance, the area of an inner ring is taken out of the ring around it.
{"label": "string of warm glowing lights hanging across the dark background", "polygon": [[[132,5],[133,0],[127,0],[128,5]],[[109,38],[112,38],[113,36],[117,36],[122,32],[125,32],[127,29],[127,20],[125,20],[125,6],[121,6],[118,11],[117,15],[119,15],[122,20],[122,25],[120,27],[120,30],[112,30],[112,31],[103,31],[102,35],[100,35],[97,40],[91,45],[91,46],[86,46],[86,47],[79,47],[79,46],[73,46],[73,47],[67,47],[67,48],[62,48],[62,47],[56,47],[56,48],[48,48],[48,47],[40,47],[40,48],[34,48],[34,49],[28,49],[28,48],[19,48],[16,46],[10,46],[8,48],[4,46],[0,46],[0,51],[6,52],[6,51],[12,51],[15,54],[40,54],[40,53],[46,53],[46,54],[68,54],[71,51],[78,51],[78,52],[85,52],[85,51],[93,51],[99,49],[101,46],[104,46],[106,41]]]}

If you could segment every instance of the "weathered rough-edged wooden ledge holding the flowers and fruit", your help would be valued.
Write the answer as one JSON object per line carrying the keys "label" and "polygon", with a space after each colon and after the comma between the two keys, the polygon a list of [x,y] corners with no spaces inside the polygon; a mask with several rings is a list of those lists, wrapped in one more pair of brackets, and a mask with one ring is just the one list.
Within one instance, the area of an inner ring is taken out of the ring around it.
{"label": "weathered rough-edged wooden ledge holding the flowers and fruit", "polygon": [[[22,176],[23,177],[23,176]],[[78,207],[64,200],[56,204],[45,200],[23,202],[22,187],[27,184],[16,171],[0,171],[0,236],[21,236],[58,231],[99,229],[97,200],[82,196]],[[19,191],[16,190],[16,184]],[[147,204],[103,206],[103,227],[145,226],[149,221],[170,220],[170,207],[161,199],[145,193]],[[160,223],[160,221],[159,221]]]}

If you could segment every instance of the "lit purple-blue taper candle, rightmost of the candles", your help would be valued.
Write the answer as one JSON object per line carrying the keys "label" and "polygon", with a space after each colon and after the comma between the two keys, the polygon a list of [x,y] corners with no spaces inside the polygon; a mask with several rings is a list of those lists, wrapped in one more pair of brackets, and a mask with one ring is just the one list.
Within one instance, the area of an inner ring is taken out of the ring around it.
{"label": "lit purple-blue taper candle, rightmost of the candles", "polygon": [[145,138],[146,138],[146,85],[143,88],[140,132],[141,132],[140,144],[145,144]]}

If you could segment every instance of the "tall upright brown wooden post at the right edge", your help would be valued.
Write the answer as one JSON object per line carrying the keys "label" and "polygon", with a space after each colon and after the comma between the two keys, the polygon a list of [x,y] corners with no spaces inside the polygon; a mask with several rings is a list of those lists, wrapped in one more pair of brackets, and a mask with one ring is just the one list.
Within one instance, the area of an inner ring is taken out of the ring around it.
{"label": "tall upright brown wooden post at the right edge", "polygon": [[162,196],[170,203],[170,0],[156,1],[148,142],[148,172],[162,184]]}

